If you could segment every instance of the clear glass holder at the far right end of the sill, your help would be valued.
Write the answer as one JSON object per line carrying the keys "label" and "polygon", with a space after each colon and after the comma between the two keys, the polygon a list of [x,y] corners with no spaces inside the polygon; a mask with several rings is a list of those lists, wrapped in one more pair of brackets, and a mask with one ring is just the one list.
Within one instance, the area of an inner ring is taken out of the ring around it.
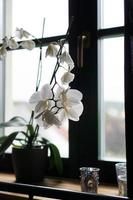
{"label": "clear glass holder at the far right end of the sill", "polygon": [[127,196],[127,169],[126,163],[116,163],[116,175],[120,196]]}

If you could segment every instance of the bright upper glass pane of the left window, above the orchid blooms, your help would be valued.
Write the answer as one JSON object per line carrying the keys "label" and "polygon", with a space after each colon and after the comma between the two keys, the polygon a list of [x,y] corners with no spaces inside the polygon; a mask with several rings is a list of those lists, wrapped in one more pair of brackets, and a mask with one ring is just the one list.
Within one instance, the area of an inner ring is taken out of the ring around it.
{"label": "bright upper glass pane of the left window, above the orchid blooms", "polygon": [[41,37],[45,18],[44,37],[64,35],[68,27],[68,0],[12,0],[12,31],[16,27]]}

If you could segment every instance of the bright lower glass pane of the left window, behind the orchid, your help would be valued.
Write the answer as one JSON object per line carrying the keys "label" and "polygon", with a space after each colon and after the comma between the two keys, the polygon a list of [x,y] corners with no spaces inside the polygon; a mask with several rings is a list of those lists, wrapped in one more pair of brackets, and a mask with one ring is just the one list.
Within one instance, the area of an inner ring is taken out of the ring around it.
{"label": "bright lower glass pane of the left window, behind the orchid", "polygon": [[[66,48],[68,48],[67,45]],[[50,82],[56,62],[55,58],[47,57],[47,59],[45,59],[45,51],[46,48],[43,48],[42,55],[44,56],[44,59],[42,59],[43,68],[40,87]],[[13,116],[21,115],[29,120],[32,108],[30,107],[28,100],[35,92],[39,49],[35,48],[32,52],[28,52],[27,50],[10,51],[8,52],[7,61],[10,57],[12,59],[12,66],[10,64],[9,66],[7,65],[10,73],[7,74],[7,82],[9,84],[7,84],[6,88],[8,92],[6,99],[6,119],[8,120]],[[64,71],[60,71],[59,76],[62,76],[63,72]],[[11,132],[11,127],[9,128],[9,132]],[[7,133],[8,129],[6,130],[6,134]],[[58,146],[62,157],[68,157],[67,120],[64,121],[60,129],[57,129],[56,127],[51,127],[47,130],[40,128],[40,134]]]}

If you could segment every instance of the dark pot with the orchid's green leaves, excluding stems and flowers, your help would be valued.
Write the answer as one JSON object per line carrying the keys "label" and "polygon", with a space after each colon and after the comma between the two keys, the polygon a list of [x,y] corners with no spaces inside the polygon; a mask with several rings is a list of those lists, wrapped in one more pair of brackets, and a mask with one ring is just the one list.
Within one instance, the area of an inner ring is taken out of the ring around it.
{"label": "dark pot with the orchid's green leaves, excluding stems and flowers", "polygon": [[[15,116],[8,122],[0,124],[0,127],[10,126],[26,127],[26,131],[14,131],[8,136],[0,138],[0,154],[3,154],[12,145],[12,161],[16,181],[27,183],[42,181],[47,168],[51,170],[55,168],[58,174],[62,173],[59,150],[56,145],[39,136],[38,124],[34,128],[32,120],[27,123],[20,116]],[[48,150],[50,151],[49,160]]]}

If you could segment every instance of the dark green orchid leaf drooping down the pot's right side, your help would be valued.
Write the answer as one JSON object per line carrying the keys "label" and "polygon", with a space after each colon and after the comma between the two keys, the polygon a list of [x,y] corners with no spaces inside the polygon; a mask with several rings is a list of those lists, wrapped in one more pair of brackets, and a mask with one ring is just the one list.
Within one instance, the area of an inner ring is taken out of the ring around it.
{"label": "dark green orchid leaf drooping down the pot's right side", "polygon": [[47,146],[50,148],[52,166],[55,166],[57,172],[61,175],[63,172],[63,164],[60,152],[52,143],[48,143]]}

